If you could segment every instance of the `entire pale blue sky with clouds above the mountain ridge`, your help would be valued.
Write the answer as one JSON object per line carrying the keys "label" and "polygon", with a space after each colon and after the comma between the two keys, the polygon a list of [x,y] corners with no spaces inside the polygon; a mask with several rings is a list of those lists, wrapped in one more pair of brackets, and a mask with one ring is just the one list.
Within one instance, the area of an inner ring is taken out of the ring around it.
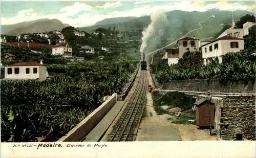
{"label": "entire pale blue sky with clouds above the mountain ridge", "polygon": [[59,19],[74,27],[94,25],[111,17],[144,16],[172,10],[208,9],[255,11],[255,1],[19,1],[1,2],[1,24],[10,25],[40,18]]}

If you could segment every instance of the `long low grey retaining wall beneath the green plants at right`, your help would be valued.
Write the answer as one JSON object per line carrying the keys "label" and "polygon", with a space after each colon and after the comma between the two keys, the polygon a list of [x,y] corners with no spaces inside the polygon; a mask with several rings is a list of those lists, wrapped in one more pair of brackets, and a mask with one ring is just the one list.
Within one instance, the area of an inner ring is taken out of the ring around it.
{"label": "long low grey retaining wall beneath the green plants at right", "polygon": [[[159,84],[159,83],[158,83]],[[255,82],[228,82],[226,85],[218,79],[207,80],[173,80],[159,84],[163,89],[198,92],[255,93]]]}

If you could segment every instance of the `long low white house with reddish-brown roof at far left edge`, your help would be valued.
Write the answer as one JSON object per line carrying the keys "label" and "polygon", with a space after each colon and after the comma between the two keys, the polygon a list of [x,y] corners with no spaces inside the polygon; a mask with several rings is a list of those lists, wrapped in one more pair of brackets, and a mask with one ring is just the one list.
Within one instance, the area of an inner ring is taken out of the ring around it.
{"label": "long low white house with reddish-brown roof at far left edge", "polygon": [[39,79],[46,80],[46,66],[38,62],[17,62],[5,66],[5,79]]}

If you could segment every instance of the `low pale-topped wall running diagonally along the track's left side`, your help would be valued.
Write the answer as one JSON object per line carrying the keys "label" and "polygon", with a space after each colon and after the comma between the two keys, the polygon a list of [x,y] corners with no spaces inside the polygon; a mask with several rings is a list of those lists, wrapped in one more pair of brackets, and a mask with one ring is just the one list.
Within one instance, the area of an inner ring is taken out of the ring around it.
{"label": "low pale-topped wall running diagonally along the track's left side", "polygon": [[71,129],[60,142],[79,142],[100,122],[117,101],[117,94],[113,94],[108,100],[103,102],[90,115],[83,119],[78,125]]}

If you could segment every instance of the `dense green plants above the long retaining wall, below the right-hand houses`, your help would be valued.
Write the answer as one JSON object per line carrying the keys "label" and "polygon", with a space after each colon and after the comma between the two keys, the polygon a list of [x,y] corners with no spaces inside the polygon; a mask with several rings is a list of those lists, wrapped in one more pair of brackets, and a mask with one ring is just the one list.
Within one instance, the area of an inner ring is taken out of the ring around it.
{"label": "dense green plants above the long retaining wall, below the right-hand houses", "polygon": [[248,82],[255,80],[256,57],[250,55],[251,53],[253,53],[252,50],[227,53],[222,57],[221,64],[212,62],[208,65],[202,63],[192,65],[181,59],[182,62],[179,61],[176,65],[160,66],[161,63],[159,63],[151,65],[151,69],[159,82],[187,79],[219,79],[223,83],[227,81]]}

